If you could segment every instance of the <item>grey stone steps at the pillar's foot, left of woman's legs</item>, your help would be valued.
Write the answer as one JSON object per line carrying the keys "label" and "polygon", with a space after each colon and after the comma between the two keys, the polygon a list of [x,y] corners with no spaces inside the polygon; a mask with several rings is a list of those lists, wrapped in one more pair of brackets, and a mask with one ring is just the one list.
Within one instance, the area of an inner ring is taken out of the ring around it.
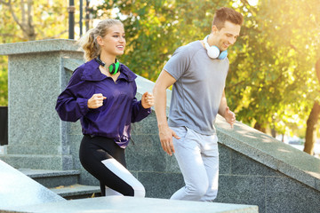
{"label": "grey stone steps at the pillar's foot, left of woman's legs", "polygon": [[100,186],[78,183],[78,170],[19,170],[67,200],[100,197]]}

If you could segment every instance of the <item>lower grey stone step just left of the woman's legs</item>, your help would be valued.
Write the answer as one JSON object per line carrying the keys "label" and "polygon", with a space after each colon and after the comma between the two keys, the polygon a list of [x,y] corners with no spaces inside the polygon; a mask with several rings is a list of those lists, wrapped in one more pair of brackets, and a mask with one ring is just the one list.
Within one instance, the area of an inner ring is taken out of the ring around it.
{"label": "lower grey stone step just left of the woman's legs", "polygon": [[50,190],[67,200],[100,197],[100,186],[94,185],[61,185]]}

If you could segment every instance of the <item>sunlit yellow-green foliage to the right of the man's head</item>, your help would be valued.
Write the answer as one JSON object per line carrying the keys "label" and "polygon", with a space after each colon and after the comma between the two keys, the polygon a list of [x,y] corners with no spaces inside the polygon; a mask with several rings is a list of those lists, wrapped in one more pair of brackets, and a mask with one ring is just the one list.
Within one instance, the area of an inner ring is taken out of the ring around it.
{"label": "sunlit yellow-green foliage to the right of the man's head", "polygon": [[319,4],[262,0],[257,8],[242,6],[248,12],[240,45],[230,56],[229,104],[243,122],[280,133],[297,130],[319,99]]}

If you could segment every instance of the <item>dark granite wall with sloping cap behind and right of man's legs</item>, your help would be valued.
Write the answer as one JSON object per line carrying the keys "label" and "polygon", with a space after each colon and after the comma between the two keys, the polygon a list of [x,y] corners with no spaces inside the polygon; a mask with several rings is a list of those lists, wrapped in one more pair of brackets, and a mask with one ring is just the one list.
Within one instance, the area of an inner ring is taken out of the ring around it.
{"label": "dark granite wall with sloping cap behind and right of man's legs", "polygon": [[[219,193],[215,201],[258,205],[260,212],[317,212],[320,161],[237,122],[234,130],[219,117]],[[156,115],[133,125],[128,168],[148,197],[170,198],[183,186],[175,158],[165,154]]]}

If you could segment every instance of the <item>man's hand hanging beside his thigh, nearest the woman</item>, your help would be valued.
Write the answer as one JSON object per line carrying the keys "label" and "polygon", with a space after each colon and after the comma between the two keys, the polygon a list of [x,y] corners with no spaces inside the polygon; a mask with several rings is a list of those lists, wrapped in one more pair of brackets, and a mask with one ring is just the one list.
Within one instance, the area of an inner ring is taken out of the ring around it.
{"label": "man's hand hanging beside his thigh, nearest the woman", "polygon": [[172,155],[172,153],[174,153],[172,137],[180,139],[180,137],[178,137],[177,134],[167,125],[161,127],[159,126],[159,138],[161,146],[163,147],[164,152],[166,152],[170,156]]}

